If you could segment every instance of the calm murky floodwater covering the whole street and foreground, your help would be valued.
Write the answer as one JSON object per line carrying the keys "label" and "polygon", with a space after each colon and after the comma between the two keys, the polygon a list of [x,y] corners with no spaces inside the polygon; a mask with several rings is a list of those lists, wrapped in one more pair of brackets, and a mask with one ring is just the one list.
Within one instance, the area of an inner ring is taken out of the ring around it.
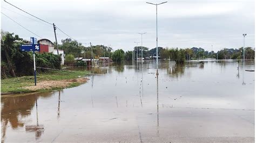
{"label": "calm murky floodwater covering the whole street and foreground", "polygon": [[160,61],[158,77],[154,61],[113,64],[79,87],[2,96],[2,142],[254,142],[254,72],[241,64]]}

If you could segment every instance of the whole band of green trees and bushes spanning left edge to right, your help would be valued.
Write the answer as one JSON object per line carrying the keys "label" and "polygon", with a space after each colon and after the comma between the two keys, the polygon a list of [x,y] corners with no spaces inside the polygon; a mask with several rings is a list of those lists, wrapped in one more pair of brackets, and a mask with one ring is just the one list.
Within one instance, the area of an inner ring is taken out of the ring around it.
{"label": "whole band of green trees and bushes spanning left edge to right", "polygon": [[[1,31],[1,75],[5,77],[15,77],[23,75],[33,75],[33,58],[31,52],[21,52],[19,46],[22,44],[28,44],[22,38],[14,33]],[[61,44],[58,45],[59,49],[63,49],[67,59],[75,57],[83,57],[85,59],[98,59],[99,57],[109,57],[114,62],[131,61],[141,57],[143,49],[143,58],[154,59],[156,56],[156,48],[149,50],[148,47],[133,47],[132,51],[123,51],[122,48],[113,51],[109,46],[104,45],[86,45],[79,43],[76,40],[69,38],[63,39]],[[235,59],[240,60],[242,56],[243,48],[223,48],[217,53],[213,51],[205,51],[204,48],[163,48],[158,47],[158,55],[160,59],[176,61],[177,63],[184,63],[186,60],[194,59]],[[245,48],[245,59],[254,59],[255,52],[252,47]],[[52,53],[36,54],[36,65],[38,67],[56,68],[60,69],[61,58],[60,55],[54,55]],[[79,63],[82,64],[82,63]],[[45,71],[38,69],[38,71]]]}

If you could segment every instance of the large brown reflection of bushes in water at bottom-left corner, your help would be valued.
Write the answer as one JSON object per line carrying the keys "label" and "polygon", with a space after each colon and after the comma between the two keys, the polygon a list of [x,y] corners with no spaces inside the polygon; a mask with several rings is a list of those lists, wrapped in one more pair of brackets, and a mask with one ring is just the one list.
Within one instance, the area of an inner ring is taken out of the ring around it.
{"label": "large brown reflection of bushes in water at bottom-left corner", "polygon": [[31,115],[31,110],[33,107],[35,107],[38,97],[50,96],[50,92],[41,92],[40,94],[2,97],[2,142],[4,142],[8,122],[13,129],[23,127],[24,123],[22,123],[18,117],[26,117]]}

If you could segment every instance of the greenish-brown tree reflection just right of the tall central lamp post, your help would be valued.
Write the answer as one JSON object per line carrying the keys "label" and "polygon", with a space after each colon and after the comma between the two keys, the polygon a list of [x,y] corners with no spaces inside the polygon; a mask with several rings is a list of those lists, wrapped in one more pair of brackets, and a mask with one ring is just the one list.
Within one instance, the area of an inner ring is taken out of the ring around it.
{"label": "greenish-brown tree reflection just right of the tall central lamp post", "polygon": [[167,73],[172,77],[179,77],[184,75],[184,70],[185,70],[184,64],[175,64],[175,65],[170,65],[170,68],[167,68]]}

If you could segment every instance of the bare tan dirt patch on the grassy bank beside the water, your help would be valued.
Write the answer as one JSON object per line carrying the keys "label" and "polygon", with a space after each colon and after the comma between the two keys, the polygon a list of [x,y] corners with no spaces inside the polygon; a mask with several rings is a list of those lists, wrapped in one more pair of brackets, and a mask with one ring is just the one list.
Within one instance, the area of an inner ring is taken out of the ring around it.
{"label": "bare tan dirt patch on the grassy bank beside the water", "polygon": [[41,89],[53,89],[53,88],[66,88],[69,87],[72,83],[85,83],[89,78],[79,77],[71,80],[59,80],[59,81],[41,81],[36,84],[36,86],[23,87],[31,91],[41,90]]}

